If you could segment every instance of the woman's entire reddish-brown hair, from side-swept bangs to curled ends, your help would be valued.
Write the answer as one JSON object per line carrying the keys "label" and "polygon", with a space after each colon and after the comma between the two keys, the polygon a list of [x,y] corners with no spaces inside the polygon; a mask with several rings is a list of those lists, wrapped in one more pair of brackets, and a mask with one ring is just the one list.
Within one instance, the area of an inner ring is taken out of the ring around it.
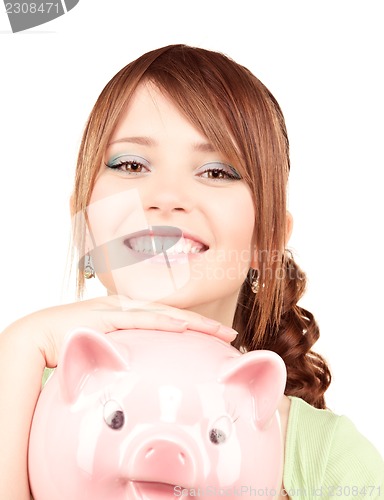
{"label": "woman's entire reddish-brown hair, from side-swept bangs to curled ends", "polygon": [[[270,349],[287,366],[286,394],[324,408],[331,376],[311,348],[319,337],[313,315],[297,305],[305,275],[286,250],[289,143],[281,109],[270,91],[227,56],[185,45],[153,50],[125,66],[100,94],[80,146],[74,212],[85,212],[108,139],[143,81],[154,83],[213,146],[239,169],[253,193],[259,291],[250,280],[240,291],[233,345]],[[84,227],[75,227],[77,247]],[[81,251],[81,250],[80,250]],[[78,275],[78,290],[84,285]]]}

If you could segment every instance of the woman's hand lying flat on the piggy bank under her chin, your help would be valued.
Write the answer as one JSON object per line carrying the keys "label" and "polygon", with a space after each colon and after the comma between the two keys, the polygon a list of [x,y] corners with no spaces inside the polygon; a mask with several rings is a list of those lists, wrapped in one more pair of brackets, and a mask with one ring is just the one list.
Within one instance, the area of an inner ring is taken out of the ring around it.
{"label": "woman's hand lying flat on the piggy bank under her chin", "polygon": [[214,335],[226,342],[236,338],[232,328],[198,313],[117,295],[43,309],[26,318],[30,321],[29,331],[36,336],[46,366],[50,368],[57,365],[66,333],[82,326],[101,333],[133,328],[175,332],[189,329]]}

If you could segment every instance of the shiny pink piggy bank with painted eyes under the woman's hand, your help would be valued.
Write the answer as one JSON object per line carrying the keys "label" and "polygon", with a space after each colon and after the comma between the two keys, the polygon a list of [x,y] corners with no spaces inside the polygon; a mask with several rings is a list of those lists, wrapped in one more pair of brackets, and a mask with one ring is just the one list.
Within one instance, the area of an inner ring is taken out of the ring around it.
{"label": "shiny pink piggy bank with painted eyes under the woman's hand", "polygon": [[35,410],[34,500],[274,498],[285,382],[277,354],[199,332],[73,331]]}

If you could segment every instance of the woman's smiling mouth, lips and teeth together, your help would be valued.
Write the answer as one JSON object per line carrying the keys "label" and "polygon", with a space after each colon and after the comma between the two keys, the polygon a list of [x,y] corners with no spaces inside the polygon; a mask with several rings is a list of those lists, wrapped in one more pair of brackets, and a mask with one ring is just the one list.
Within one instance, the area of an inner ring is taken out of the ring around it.
{"label": "woman's smiling mouth, lips and teeth together", "polygon": [[194,237],[183,234],[180,229],[168,226],[155,226],[134,233],[124,240],[124,245],[143,256],[165,252],[170,256],[198,254],[206,252],[209,248]]}

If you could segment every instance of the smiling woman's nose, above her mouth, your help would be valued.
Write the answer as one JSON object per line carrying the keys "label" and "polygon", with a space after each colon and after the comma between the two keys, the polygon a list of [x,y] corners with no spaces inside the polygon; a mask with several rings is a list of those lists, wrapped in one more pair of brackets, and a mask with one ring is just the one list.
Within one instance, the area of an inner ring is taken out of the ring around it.
{"label": "smiling woman's nose, above her mouth", "polygon": [[140,193],[146,211],[157,211],[164,215],[175,212],[190,212],[192,199],[187,182],[180,176],[155,177]]}

